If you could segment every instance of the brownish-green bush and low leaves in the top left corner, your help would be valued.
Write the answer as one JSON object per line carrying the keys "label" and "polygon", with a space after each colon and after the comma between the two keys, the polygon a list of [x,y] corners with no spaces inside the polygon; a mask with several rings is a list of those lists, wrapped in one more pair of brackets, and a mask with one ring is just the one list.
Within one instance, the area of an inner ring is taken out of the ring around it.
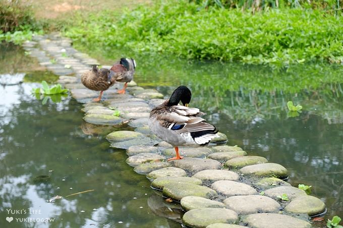
{"label": "brownish-green bush and low leaves in the top left corner", "polygon": [[44,23],[34,18],[28,4],[20,0],[0,0],[0,41],[22,43],[40,31]]}

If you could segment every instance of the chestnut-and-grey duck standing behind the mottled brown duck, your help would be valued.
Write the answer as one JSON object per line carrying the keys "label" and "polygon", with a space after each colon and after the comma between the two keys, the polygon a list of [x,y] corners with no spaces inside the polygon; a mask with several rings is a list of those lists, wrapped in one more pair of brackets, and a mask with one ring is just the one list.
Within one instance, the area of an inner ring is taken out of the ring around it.
{"label": "chestnut-and-grey duck standing behind the mottled brown duck", "polygon": [[119,74],[117,76],[117,82],[125,83],[124,88],[119,90],[119,94],[125,94],[125,89],[128,83],[133,80],[133,74],[136,68],[136,61],[133,58],[121,58],[120,61],[113,64],[110,70]]}

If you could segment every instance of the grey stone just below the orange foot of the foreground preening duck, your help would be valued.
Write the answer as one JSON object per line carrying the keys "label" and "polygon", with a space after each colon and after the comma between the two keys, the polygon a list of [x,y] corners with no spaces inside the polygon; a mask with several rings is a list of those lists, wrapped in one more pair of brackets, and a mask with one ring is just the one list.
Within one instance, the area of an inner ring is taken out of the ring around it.
{"label": "grey stone just below the orange foot of the foreground preening duck", "polygon": [[181,160],[170,161],[173,166],[190,173],[197,173],[202,170],[218,170],[221,165],[218,161],[212,159],[184,158]]}

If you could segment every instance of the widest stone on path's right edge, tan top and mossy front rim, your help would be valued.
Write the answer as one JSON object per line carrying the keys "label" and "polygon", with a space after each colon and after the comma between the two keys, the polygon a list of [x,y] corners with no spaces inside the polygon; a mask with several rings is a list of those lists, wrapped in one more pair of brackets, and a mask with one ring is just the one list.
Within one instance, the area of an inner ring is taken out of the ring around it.
{"label": "widest stone on path's right edge, tan top and mossy front rim", "polygon": [[288,177],[287,169],[275,163],[246,166],[241,169],[241,172],[245,175],[254,175],[258,177],[277,177],[280,179]]}

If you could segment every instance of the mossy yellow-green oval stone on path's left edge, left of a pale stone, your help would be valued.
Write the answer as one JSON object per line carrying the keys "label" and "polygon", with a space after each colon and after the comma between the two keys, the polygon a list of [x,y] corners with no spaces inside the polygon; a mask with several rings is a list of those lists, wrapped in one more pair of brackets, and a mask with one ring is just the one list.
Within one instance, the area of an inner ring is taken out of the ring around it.
{"label": "mossy yellow-green oval stone on path's left edge, left of a pale stone", "polygon": [[166,184],[163,187],[162,193],[165,197],[175,200],[181,200],[186,196],[199,196],[207,199],[218,196],[218,194],[210,188],[188,182],[172,182]]}

